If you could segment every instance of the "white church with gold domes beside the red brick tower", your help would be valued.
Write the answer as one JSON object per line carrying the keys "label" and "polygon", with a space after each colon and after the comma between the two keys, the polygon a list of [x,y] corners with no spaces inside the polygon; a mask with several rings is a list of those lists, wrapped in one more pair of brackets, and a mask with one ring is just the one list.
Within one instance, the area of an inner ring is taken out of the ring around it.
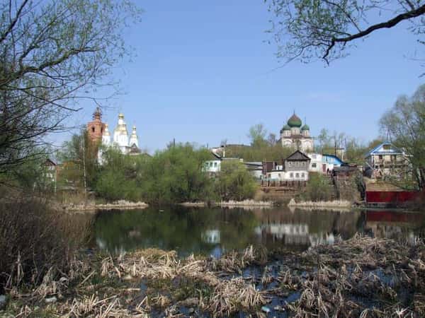
{"label": "white church with gold domes beside the red brick tower", "polygon": [[129,138],[124,115],[121,113],[118,114],[118,124],[113,130],[113,139],[111,140],[111,133],[109,132],[108,124],[105,124],[102,134],[102,145],[106,147],[117,147],[123,154],[140,153],[136,126],[132,126],[132,131]]}

